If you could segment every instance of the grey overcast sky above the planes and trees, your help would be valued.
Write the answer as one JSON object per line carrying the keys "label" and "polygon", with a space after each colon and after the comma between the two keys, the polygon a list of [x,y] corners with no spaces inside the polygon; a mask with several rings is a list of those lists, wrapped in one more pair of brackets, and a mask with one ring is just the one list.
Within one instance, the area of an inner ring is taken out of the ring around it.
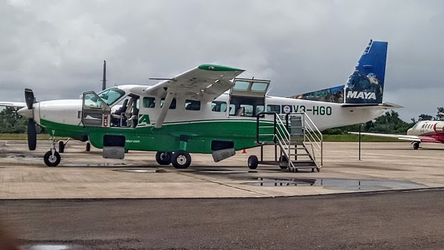
{"label": "grey overcast sky above the planes and trees", "polygon": [[287,97],[344,84],[388,42],[384,101],[409,121],[444,106],[444,1],[0,0],[0,100],[155,84],[203,63],[246,69]]}

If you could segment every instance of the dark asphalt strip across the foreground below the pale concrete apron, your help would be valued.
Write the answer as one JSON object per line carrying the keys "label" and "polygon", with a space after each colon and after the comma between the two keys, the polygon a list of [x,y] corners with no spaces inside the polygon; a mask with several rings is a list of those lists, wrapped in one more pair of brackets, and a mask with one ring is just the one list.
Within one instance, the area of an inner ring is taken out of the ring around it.
{"label": "dark asphalt strip across the foreground below the pale concrete apron", "polygon": [[0,200],[24,249],[444,249],[444,190]]}

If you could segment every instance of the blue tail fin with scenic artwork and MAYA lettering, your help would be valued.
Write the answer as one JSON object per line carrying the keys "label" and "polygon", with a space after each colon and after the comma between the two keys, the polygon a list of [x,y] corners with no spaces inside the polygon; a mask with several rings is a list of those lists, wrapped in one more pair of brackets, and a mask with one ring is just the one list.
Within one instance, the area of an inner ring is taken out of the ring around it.
{"label": "blue tail fin with scenic artwork and MAYA lettering", "polygon": [[387,42],[370,40],[345,85],[299,94],[290,98],[352,105],[382,103],[387,44]]}

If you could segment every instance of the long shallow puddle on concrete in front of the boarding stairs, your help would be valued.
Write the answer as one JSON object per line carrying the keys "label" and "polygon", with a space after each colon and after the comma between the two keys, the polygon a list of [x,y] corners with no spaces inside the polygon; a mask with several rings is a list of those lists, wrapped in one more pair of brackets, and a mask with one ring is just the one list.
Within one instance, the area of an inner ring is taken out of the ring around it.
{"label": "long shallow puddle on concrete in front of the boarding stairs", "polygon": [[413,181],[354,180],[341,178],[253,178],[254,183],[244,183],[263,187],[314,186],[339,190],[391,190],[427,188]]}

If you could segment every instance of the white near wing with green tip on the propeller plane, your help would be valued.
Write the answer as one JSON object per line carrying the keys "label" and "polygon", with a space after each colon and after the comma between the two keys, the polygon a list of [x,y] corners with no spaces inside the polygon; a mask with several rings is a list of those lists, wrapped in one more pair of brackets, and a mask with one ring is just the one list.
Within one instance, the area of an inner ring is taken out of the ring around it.
{"label": "white near wing with green tip on the propeller plane", "polygon": [[146,88],[148,94],[165,97],[167,92],[173,92],[175,96],[194,99],[214,99],[230,90],[232,78],[244,72],[243,69],[235,69],[219,65],[200,65],[178,76],[162,81]]}

